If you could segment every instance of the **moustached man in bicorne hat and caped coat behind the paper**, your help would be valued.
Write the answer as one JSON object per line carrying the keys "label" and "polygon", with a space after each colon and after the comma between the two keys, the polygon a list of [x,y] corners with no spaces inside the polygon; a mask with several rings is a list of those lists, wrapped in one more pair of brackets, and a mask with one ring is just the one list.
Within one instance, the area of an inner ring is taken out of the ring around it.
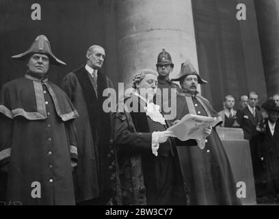
{"label": "moustached man in bicorne hat and caped coat behind the paper", "polygon": [[[181,64],[181,73],[172,81],[179,81],[181,85],[174,106],[177,111],[174,123],[186,114],[216,117],[222,122],[209,101],[198,93],[198,83],[207,81],[200,77],[191,62]],[[239,205],[241,201],[236,196],[236,183],[224,146],[215,128],[207,129],[211,130],[211,135],[206,140],[191,140],[191,146],[178,148],[191,205]]]}

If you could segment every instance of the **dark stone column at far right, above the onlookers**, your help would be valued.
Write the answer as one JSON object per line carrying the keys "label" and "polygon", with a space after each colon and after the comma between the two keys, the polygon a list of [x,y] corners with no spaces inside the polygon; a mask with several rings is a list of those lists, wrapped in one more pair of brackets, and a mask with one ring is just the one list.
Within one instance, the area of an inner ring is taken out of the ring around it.
{"label": "dark stone column at far right, above the onlookers", "polygon": [[258,34],[261,41],[267,94],[279,93],[279,1],[256,0]]}

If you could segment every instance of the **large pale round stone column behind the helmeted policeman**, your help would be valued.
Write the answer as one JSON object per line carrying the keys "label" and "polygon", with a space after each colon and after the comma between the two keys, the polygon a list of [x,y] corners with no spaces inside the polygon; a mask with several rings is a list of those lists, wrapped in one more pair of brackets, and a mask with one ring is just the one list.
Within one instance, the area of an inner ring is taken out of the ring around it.
{"label": "large pale round stone column behind the helmeted policeman", "polygon": [[115,17],[118,78],[125,88],[135,71],[156,69],[162,49],[174,62],[170,78],[186,59],[198,70],[191,0],[117,0]]}

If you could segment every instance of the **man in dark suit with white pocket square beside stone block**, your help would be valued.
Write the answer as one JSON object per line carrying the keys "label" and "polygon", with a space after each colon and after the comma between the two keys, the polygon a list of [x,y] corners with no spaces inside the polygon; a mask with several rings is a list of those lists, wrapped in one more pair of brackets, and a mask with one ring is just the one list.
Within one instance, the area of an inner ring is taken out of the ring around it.
{"label": "man in dark suit with white pocket square beside stone block", "polygon": [[237,111],[237,122],[243,129],[244,138],[250,141],[250,152],[252,158],[253,172],[255,183],[258,183],[258,175],[261,172],[261,160],[257,159],[257,138],[258,134],[263,131],[260,125],[263,115],[256,107],[258,103],[258,94],[250,92],[248,94],[248,106],[243,110]]}

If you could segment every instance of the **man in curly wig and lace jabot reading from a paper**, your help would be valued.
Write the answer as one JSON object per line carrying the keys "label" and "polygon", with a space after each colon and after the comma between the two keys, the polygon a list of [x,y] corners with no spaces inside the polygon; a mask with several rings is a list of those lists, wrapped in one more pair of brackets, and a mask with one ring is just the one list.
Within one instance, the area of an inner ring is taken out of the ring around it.
{"label": "man in curly wig and lace jabot reading from a paper", "polygon": [[155,71],[139,70],[135,91],[113,115],[118,205],[187,204],[170,123],[152,103],[157,83]]}

